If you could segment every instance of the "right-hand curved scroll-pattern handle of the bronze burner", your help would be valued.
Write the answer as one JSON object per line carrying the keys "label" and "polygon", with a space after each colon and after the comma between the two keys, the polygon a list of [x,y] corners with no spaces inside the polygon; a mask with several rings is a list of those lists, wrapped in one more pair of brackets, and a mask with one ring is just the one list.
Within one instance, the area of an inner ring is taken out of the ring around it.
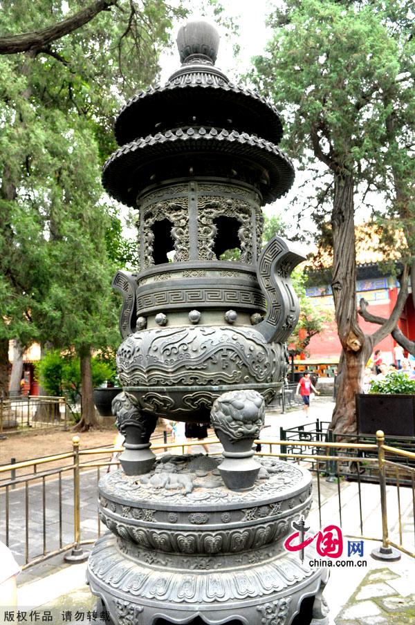
{"label": "right-hand curved scroll-pattern handle of the bronze burner", "polygon": [[299,304],[291,272],[304,260],[305,256],[281,236],[271,239],[259,256],[257,279],[267,307],[264,320],[255,330],[268,343],[283,343],[297,325]]}

